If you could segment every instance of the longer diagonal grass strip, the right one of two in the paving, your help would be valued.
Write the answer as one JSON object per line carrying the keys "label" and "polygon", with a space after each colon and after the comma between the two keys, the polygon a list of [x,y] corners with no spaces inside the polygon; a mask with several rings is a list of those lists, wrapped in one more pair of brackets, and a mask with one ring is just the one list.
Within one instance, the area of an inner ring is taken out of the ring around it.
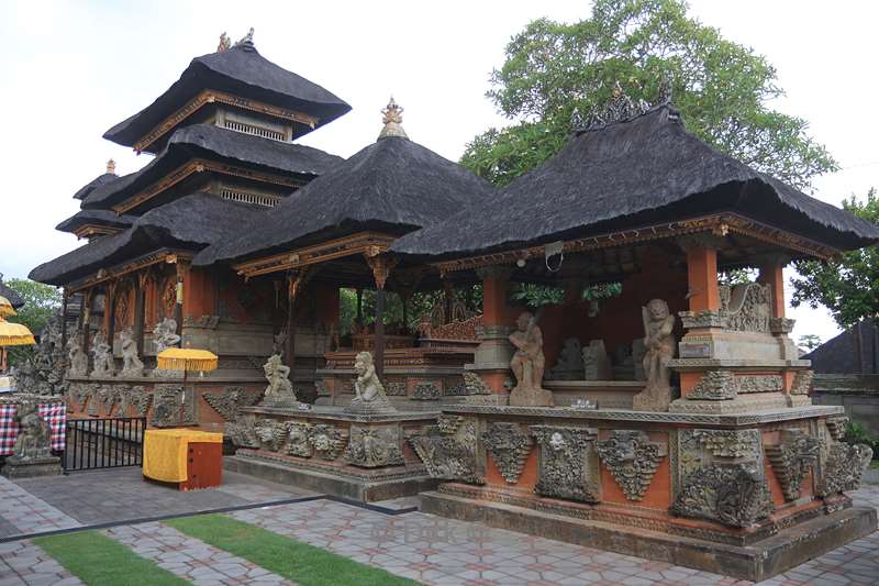
{"label": "longer diagonal grass strip, the right one of two in the paving", "polygon": [[222,515],[163,522],[302,586],[419,584]]}

